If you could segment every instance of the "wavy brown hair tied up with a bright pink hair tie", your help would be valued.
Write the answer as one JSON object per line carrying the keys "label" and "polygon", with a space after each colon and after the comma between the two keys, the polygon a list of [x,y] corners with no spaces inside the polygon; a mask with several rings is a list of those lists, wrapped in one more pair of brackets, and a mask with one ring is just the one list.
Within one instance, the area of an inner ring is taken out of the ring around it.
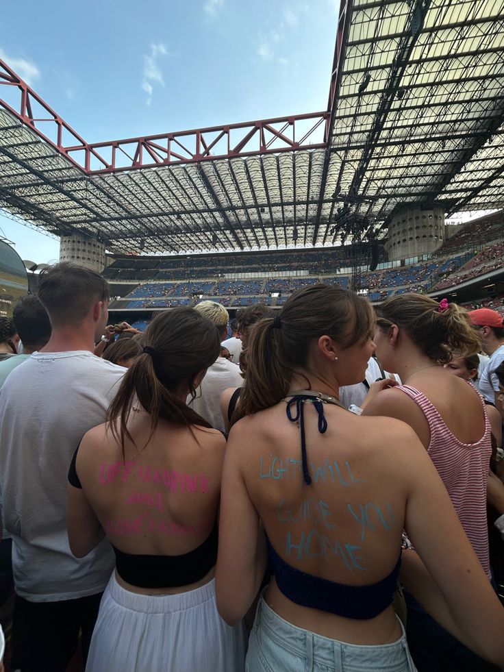
{"label": "wavy brown hair tied up with a bright pink hair tie", "polygon": [[456,303],[444,307],[422,294],[403,294],[380,303],[376,314],[380,327],[387,328],[381,324],[382,319],[398,325],[420,350],[440,364],[448,364],[455,351],[462,357],[481,351],[481,338],[472,328],[468,312]]}

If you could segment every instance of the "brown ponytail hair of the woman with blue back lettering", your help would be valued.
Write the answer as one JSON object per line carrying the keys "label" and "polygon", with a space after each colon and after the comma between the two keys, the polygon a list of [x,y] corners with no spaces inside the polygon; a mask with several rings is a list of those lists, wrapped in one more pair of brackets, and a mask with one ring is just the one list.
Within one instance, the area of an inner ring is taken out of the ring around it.
{"label": "brown ponytail hair of the woman with blue back lettering", "polygon": [[283,399],[294,373],[307,371],[314,339],[327,334],[350,347],[370,338],[374,322],[370,303],[338,286],[315,284],[292,294],[274,319],[251,329],[245,384],[231,422]]}

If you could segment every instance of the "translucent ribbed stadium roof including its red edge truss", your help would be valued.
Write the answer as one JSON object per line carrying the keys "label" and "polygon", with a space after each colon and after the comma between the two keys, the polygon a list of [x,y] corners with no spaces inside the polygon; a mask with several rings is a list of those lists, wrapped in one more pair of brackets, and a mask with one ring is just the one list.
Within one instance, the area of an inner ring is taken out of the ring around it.
{"label": "translucent ribbed stadium roof including its red edge truss", "polygon": [[334,245],[411,201],[503,208],[503,63],[503,1],[342,0],[327,110],[90,145],[0,61],[0,207],[117,253]]}

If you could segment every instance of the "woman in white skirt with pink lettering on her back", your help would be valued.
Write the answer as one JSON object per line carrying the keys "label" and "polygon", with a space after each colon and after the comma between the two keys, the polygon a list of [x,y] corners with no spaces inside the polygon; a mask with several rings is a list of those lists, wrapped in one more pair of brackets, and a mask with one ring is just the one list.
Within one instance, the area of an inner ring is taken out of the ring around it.
{"label": "woman in white skirt with pink lettering on her back", "polygon": [[244,628],[227,626],[215,601],[225,440],[186,405],[220,333],[175,308],[144,343],[68,473],[71,548],[85,556],[107,534],[116,555],[86,671],[243,672]]}

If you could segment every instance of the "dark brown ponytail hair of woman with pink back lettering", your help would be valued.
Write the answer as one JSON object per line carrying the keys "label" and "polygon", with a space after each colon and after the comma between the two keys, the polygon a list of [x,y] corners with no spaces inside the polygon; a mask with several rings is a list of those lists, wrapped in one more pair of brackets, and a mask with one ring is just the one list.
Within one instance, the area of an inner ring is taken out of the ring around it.
{"label": "dark brown ponytail hair of woman with pink back lettering", "polygon": [[[194,382],[220,353],[218,331],[210,320],[193,308],[174,308],[158,314],[142,339],[144,351],[123,377],[121,387],[108,409],[106,422],[125,447],[125,437],[135,444],[127,429],[134,403],[151,415],[151,440],[160,418],[177,425],[211,427],[177,396],[187,384],[194,397]],[[149,440],[147,443],[149,443]]]}

